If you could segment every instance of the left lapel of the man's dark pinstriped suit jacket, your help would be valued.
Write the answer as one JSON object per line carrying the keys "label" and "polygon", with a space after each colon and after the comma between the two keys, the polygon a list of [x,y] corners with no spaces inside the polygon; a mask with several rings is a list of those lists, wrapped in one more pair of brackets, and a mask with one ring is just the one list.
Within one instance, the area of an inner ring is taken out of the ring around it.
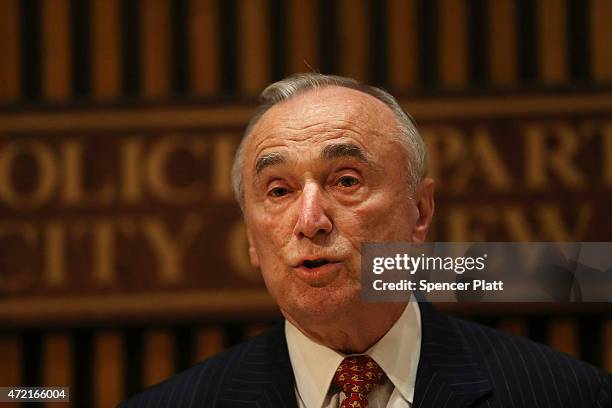
{"label": "left lapel of the man's dark pinstriped suit jacket", "polygon": [[284,325],[249,347],[219,398],[220,407],[297,407]]}

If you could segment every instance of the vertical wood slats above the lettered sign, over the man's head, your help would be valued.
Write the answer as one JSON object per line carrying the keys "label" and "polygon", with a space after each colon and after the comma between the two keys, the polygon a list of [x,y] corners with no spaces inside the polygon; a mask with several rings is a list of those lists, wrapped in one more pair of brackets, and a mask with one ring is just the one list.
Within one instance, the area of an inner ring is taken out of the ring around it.
{"label": "vertical wood slats above the lettered sign, over the man's head", "polygon": [[301,71],[392,92],[612,82],[610,0],[4,0],[0,101],[249,97]]}

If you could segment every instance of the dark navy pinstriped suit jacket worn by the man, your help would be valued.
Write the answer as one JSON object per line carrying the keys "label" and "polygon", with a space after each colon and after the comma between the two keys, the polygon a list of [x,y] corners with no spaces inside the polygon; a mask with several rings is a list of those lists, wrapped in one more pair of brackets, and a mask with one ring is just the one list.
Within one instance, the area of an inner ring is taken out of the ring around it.
{"label": "dark navy pinstriped suit jacket worn by the man", "polygon": [[[612,375],[549,347],[419,304],[421,356],[413,407],[612,407]],[[297,407],[283,326],[120,404]]]}

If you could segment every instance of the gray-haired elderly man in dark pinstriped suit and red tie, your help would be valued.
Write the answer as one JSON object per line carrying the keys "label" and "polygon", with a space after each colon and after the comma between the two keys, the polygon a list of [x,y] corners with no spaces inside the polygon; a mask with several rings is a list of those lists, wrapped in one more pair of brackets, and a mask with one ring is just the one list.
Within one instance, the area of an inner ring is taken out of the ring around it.
{"label": "gray-haired elderly man in dark pinstriped suit and red tie", "polygon": [[253,265],[286,321],[125,407],[610,407],[610,375],[417,302],[361,299],[364,242],[422,242],[426,150],[388,93],[270,85],[234,164]]}

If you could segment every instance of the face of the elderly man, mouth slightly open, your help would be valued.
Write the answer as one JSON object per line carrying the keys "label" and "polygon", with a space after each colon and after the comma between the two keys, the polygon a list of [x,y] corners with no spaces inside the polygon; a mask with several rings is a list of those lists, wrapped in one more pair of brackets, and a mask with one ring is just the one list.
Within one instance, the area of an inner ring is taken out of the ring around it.
{"label": "face of the elderly man, mouth slightly open", "polygon": [[424,240],[396,133],[387,106],[341,87],[277,104],[253,128],[242,164],[249,253],[285,316],[351,313],[361,244]]}

